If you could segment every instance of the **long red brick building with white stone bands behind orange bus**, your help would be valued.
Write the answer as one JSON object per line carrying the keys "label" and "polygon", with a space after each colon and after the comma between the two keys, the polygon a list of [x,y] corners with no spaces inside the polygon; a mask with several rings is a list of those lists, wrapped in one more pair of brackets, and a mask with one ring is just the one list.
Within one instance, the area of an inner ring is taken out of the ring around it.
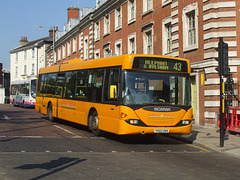
{"label": "long red brick building with white stone bands behind orange bus", "polygon": [[190,59],[195,123],[216,125],[220,91],[215,48],[219,37],[228,43],[229,65],[238,83],[240,1],[108,0],[81,20],[78,13],[76,7],[68,9],[68,25],[55,42],[56,64],[131,53]]}

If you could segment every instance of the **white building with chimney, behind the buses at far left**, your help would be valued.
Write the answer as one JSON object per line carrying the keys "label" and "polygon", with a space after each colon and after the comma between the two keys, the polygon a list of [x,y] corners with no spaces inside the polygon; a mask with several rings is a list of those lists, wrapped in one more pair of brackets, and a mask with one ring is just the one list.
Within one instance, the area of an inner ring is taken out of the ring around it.
{"label": "white building with chimney, behind the buses at far left", "polygon": [[11,82],[37,78],[39,69],[46,67],[45,50],[52,44],[51,32],[49,31],[49,37],[31,42],[28,42],[27,37],[22,37],[20,46],[9,52]]}

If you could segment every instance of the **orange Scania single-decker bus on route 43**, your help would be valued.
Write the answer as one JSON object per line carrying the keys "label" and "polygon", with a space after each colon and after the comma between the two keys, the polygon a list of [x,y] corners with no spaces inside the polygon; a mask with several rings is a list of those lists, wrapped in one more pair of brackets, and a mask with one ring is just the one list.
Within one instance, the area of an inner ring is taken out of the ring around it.
{"label": "orange Scania single-decker bus on route 43", "polygon": [[122,55],[42,68],[35,109],[93,134],[189,134],[190,61]]}

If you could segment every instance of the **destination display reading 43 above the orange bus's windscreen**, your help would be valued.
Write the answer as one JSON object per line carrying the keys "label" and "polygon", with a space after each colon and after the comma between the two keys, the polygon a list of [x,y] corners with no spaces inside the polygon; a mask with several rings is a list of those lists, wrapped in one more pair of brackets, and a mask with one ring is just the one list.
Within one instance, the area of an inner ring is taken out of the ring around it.
{"label": "destination display reading 43 above the orange bus's windscreen", "polygon": [[188,72],[186,61],[154,57],[135,57],[133,68],[145,70]]}

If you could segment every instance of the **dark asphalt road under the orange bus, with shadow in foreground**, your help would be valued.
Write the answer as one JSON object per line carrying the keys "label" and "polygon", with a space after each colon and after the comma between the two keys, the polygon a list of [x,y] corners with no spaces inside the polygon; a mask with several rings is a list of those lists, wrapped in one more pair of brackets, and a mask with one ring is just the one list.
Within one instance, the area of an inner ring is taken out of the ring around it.
{"label": "dark asphalt road under the orange bus, with shadow in foreground", "polygon": [[93,136],[0,105],[0,179],[239,179],[240,161],[167,135]]}

